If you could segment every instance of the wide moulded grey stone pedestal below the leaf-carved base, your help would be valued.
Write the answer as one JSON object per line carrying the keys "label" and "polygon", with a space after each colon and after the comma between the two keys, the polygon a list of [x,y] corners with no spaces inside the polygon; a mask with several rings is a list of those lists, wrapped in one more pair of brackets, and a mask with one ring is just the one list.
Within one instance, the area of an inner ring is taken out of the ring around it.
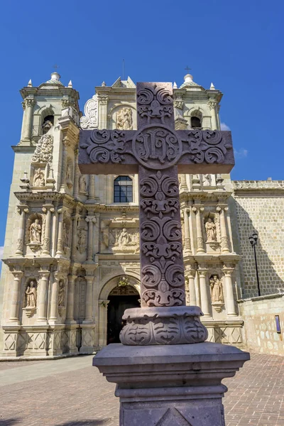
{"label": "wide moulded grey stone pedestal below the leaf-carved base", "polygon": [[93,365],[116,383],[120,426],[224,426],[222,379],[249,353],[217,343],[109,344]]}

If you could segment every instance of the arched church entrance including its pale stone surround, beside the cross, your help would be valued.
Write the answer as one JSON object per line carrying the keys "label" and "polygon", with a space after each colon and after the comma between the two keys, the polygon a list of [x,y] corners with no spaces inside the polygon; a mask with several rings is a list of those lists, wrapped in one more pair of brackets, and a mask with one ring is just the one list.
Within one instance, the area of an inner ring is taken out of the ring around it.
{"label": "arched church entrance including its pale stone surround, beside the cross", "polygon": [[[122,278],[126,278],[126,283],[119,283]],[[124,274],[116,275],[116,277],[107,281],[99,294],[99,346],[106,346],[108,343],[118,341],[119,331],[121,329],[121,317],[124,310],[129,307],[139,306],[140,283],[138,278]],[[111,312],[111,315],[108,314],[108,312]],[[110,339],[111,330],[109,328],[111,326],[108,322],[111,320],[114,321],[114,323],[111,324],[112,332],[115,334],[114,339]]]}

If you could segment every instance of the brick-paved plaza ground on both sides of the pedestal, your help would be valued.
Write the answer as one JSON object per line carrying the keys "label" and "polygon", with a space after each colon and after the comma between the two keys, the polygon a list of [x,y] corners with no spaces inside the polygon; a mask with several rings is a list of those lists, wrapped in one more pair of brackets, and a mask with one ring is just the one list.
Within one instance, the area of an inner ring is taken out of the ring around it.
{"label": "brick-paved plaza ground on both sides of the pedestal", "polygon": [[[0,426],[118,426],[119,400],[92,356],[0,363]],[[252,354],[224,381],[226,426],[284,426],[284,359]]]}

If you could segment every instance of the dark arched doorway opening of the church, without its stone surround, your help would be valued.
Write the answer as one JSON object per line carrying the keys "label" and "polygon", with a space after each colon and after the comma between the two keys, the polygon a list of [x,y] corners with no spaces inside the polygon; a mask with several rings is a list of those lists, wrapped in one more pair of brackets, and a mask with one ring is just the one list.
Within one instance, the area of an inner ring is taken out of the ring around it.
{"label": "dark arched doorway opening of the church, without its stone surround", "polygon": [[107,307],[107,344],[120,343],[119,333],[123,327],[122,315],[131,307],[140,307],[140,295],[131,285],[117,286],[111,291]]}

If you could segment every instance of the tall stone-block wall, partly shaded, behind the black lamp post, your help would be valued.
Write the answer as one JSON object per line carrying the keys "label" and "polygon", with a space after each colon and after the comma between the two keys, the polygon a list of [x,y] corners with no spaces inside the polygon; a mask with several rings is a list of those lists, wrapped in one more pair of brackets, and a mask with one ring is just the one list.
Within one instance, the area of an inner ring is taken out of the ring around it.
{"label": "tall stone-block wall, partly shaded, behind the black lamp post", "polygon": [[234,181],[242,297],[258,295],[249,236],[258,232],[256,256],[261,295],[284,290],[284,181]]}

